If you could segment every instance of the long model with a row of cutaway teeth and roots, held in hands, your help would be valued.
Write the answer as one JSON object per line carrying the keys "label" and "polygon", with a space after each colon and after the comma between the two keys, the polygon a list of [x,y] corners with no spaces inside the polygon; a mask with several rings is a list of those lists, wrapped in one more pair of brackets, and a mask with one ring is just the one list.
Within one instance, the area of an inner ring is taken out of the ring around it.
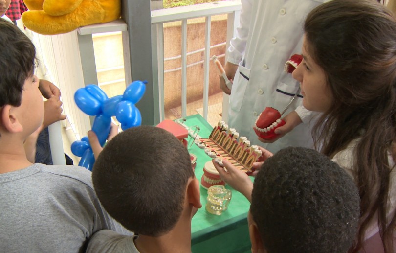
{"label": "long model with a row of cutaway teeth and roots, held in hands", "polygon": [[246,137],[240,137],[233,128],[228,128],[224,121],[220,121],[213,128],[209,138],[200,138],[195,143],[220,165],[222,160],[227,160],[238,169],[251,173],[253,162],[262,155],[257,146],[250,146]]}

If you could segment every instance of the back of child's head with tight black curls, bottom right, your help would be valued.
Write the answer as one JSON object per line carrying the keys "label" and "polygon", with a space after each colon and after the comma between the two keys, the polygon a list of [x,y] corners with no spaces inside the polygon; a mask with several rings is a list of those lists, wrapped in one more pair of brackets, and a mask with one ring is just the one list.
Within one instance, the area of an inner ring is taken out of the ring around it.
{"label": "back of child's head with tight black curls, bottom right", "polygon": [[347,252],[356,238],[359,195],[328,157],[289,147],[264,162],[250,212],[268,253]]}

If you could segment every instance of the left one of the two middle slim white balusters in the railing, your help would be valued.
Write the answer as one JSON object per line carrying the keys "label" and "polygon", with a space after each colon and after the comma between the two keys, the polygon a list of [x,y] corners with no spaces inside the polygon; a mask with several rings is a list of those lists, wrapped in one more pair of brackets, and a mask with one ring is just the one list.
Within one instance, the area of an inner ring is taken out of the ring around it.
{"label": "left one of the two middle slim white balusters in the railing", "polygon": [[187,19],[181,21],[181,115],[187,116]]}

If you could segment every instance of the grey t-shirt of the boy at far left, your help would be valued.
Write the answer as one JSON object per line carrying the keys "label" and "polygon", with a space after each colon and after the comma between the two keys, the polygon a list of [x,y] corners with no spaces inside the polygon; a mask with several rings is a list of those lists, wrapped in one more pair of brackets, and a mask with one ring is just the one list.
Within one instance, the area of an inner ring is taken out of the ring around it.
{"label": "grey t-shirt of the boy at far left", "polygon": [[0,174],[1,252],[84,252],[102,229],[132,233],[114,221],[77,166],[33,164]]}

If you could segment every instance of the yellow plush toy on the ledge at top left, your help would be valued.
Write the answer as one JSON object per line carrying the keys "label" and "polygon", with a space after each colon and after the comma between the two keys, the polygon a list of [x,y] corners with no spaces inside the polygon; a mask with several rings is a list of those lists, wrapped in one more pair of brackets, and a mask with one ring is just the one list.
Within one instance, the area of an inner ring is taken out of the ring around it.
{"label": "yellow plush toy on the ledge at top left", "polygon": [[24,0],[24,3],[29,11],[22,14],[23,24],[44,35],[110,22],[121,15],[121,0]]}

